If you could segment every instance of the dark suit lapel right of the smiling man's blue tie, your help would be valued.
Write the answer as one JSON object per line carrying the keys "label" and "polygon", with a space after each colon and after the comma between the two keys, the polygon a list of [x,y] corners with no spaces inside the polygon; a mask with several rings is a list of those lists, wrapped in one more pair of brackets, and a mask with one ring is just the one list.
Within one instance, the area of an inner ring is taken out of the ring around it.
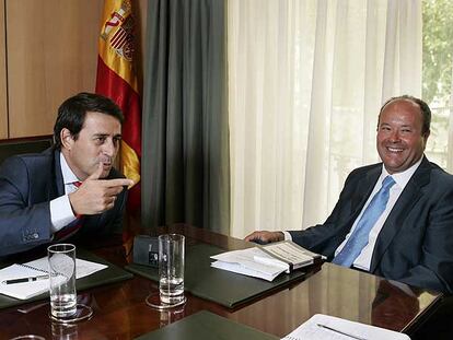
{"label": "dark suit lapel right of the smiling man's blue tie", "polygon": [[420,199],[420,188],[429,183],[430,174],[431,166],[428,160],[423,157],[420,166],[417,168],[413,175],[413,178],[410,178],[403,192],[400,194],[378,236],[376,245],[371,258],[370,272],[375,271],[385,250],[388,248],[396,234],[400,231],[400,226],[403,225],[408,212]]}

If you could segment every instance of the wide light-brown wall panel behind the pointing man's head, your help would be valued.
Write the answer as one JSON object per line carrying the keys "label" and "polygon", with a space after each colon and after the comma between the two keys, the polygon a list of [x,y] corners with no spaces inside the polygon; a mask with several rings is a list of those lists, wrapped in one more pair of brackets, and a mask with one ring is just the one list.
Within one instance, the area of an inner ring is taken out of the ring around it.
{"label": "wide light-brown wall panel behind the pointing man's head", "polygon": [[93,92],[102,0],[7,0],[10,138],[51,133],[58,106]]}

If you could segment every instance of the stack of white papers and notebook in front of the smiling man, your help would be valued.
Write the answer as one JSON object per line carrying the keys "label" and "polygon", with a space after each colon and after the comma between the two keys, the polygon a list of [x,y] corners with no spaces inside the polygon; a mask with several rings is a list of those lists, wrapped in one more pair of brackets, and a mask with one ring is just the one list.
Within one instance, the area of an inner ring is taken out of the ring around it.
{"label": "stack of white papers and notebook in front of the smiling man", "polygon": [[321,257],[292,241],[282,241],[211,256],[216,260],[211,267],[272,281],[280,273],[310,266]]}

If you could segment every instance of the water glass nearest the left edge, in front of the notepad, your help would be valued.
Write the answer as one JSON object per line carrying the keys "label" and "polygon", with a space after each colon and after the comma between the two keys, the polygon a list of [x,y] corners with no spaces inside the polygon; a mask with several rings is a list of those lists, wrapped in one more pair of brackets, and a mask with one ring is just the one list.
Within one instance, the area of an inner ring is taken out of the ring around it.
{"label": "water glass nearest the left edge, in front of the notepad", "polygon": [[47,248],[50,275],[50,314],[70,318],[77,312],[76,246],[55,244]]}

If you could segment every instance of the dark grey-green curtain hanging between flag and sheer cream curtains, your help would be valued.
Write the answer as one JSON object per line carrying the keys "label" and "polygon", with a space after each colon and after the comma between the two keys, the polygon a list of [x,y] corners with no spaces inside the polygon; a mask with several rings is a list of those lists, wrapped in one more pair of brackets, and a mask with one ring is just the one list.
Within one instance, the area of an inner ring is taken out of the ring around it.
{"label": "dark grey-green curtain hanging between flag and sheer cream curtains", "polygon": [[229,234],[224,0],[150,0],[143,90],[142,225]]}

